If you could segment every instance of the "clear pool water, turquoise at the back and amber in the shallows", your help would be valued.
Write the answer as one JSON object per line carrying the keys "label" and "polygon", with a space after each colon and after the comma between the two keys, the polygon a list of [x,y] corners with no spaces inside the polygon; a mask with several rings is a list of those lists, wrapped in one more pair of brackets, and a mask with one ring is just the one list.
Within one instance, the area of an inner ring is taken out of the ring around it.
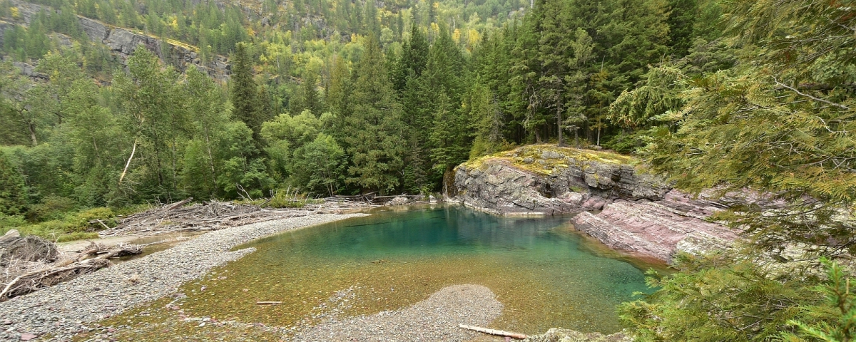
{"label": "clear pool water, turquoise at the back and amber in the shallows", "polygon": [[621,328],[615,304],[650,291],[642,270],[649,265],[592,244],[574,232],[570,216],[498,217],[460,207],[372,214],[240,246],[257,251],[185,286],[183,309],[290,327],[335,314],[328,299],[336,291],[353,293],[336,302],[344,317],[480,284],[505,305],[491,327],[613,333]]}

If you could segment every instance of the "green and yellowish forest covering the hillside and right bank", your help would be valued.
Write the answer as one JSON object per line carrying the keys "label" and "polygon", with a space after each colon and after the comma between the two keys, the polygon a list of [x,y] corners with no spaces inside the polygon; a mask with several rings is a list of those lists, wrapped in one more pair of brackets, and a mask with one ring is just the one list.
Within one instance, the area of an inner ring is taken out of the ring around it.
{"label": "green and yellowish forest covering the hillside and right bank", "polygon": [[[615,150],[688,192],[780,203],[716,216],[745,248],[651,274],[619,309],[636,339],[856,339],[853,1],[2,0],[0,17],[0,232],[80,239],[188,197],[437,194],[523,144]],[[81,17],[161,44],[116,54]],[[815,258],[759,262],[785,245]]]}

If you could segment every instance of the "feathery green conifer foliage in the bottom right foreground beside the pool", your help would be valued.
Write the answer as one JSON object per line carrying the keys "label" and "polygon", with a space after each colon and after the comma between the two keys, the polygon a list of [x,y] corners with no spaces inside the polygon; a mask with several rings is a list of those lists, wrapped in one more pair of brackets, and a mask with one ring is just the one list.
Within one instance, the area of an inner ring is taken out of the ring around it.
{"label": "feathery green conifer foliage in the bottom right foreground beside the pool", "polygon": [[[649,278],[659,289],[619,306],[637,341],[771,341],[792,332],[800,304],[813,304],[816,280],[771,274],[734,255],[680,255],[681,272]],[[656,275],[656,274],[651,274]]]}

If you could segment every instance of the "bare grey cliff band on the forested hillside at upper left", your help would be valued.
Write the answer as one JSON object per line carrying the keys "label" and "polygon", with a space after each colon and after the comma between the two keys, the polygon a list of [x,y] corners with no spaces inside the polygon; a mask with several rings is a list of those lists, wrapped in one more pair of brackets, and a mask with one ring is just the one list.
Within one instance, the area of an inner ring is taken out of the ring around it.
{"label": "bare grey cliff band on the forested hillside at upper left", "polygon": [[[12,5],[18,9],[20,18],[18,23],[21,25],[29,25],[35,15],[39,14],[42,9],[54,11],[46,6],[22,2],[19,0],[10,0]],[[196,48],[182,44],[171,39],[157,38],[146,35],[140,32],[132,32],[121,27],[111,27],[100,21],[95,21],[86,17],[78,16],[80,28],[86,32],[86,36],[93,42],[103,43],[110,47],[110,50],[119,58],[122,65],[127,66],[128,56],[134,50],[144,47],[152,51],[155,55],[161,58],[165,63],[176,68],[179,72],[184,72],[191,64],[196,65],[196,68],[207,73],[214,79],[226,80],[231,74],[229,60],[223,56],[215,56],[211,62],[204,63],[196,53]],[[8,21],[0,22],[0,42],[3,40],[3,32],[11,25]]]}

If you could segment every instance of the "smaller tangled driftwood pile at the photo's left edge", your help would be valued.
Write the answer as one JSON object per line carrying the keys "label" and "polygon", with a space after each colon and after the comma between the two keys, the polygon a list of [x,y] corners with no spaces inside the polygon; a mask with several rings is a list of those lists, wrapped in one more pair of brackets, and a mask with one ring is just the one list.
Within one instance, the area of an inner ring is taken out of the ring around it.
{"label": "smaller tangled driftwood pile at the photo's left edge", "polygon": [[142,253],[137,245],[90,243],[79,253],[61,253],[53,242],[11,230],[0,237],[0,301],[54,286],[112,265],[107,259]]}

